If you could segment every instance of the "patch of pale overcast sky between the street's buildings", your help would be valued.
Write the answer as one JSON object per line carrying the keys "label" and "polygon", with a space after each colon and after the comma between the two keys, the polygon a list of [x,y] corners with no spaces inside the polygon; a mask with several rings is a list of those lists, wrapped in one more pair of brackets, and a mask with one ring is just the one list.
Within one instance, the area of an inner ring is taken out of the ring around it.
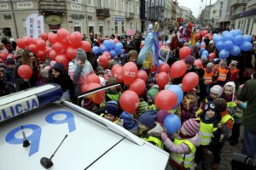
{"label": "patch of pale overcast sky between the street's buildings", "polygon": [[[211,4],[216,3],[217,0],[211,0]],[[202,9],[205,8],[206,3],[207,5],[210,4],[210,0],[203,0],[201,4],[201,0],[177,0],[178,5],[188,7],[191,9],[195,18],[197,18],[198,14],[200,13],[200,6]]]}

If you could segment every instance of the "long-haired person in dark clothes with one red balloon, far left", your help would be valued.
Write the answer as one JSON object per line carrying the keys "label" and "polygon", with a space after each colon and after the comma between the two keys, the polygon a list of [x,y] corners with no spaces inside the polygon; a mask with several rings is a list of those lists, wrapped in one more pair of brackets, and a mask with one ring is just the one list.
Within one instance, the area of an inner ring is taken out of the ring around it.
{"label": "long-haired person in dark clothes with one red balloon, far left", "polygon": [[32,51],[25,49],[20,62],[15,65],[15,90],[19,92],[36,86],[38,80],[38,59]]}

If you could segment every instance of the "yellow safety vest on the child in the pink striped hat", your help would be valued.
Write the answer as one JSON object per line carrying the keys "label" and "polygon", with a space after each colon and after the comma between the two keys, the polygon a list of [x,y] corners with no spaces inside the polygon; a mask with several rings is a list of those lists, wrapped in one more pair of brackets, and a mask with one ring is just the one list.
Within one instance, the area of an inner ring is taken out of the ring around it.
{"label": "yellow safety vest on the child in the pink striped hat", "polygon": [[185,168],[189,168],[192,166],[194,159],[195,159],[195,144],[192,144],[191,142],[189,142],[189,140],[186,139],[174,139],[173,144],[175,145],[179,145],[185,143],[189,146],[189,149],[191,150],[191,152],[189,154],[178,154],[178,153],[173,153],[171,154],[171,158],[173,161],[176,161],[178,164],[182,164]]}

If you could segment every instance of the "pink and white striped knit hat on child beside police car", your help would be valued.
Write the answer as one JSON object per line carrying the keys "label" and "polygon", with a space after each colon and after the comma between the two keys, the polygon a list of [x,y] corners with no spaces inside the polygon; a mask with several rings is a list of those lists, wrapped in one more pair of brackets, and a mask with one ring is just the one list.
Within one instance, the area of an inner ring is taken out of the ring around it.
{"label": "pink and white striped knit hat on child beside police car", "polygon": [[200,130],[200,120],[191,118],[183,122],[182,128],[186,130],[189,136],[195,136],[195,134]]}

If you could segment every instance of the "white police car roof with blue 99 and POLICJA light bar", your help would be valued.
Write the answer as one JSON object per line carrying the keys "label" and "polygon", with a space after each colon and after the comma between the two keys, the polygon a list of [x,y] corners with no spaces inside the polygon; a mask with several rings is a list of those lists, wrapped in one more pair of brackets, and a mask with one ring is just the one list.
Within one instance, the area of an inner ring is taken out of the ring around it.
{"label": "white police car roof with blue 99 and POLICJA light bar", "polygon": [[0,169],[166,168],[169,154],[47,84],[0,98]]}

